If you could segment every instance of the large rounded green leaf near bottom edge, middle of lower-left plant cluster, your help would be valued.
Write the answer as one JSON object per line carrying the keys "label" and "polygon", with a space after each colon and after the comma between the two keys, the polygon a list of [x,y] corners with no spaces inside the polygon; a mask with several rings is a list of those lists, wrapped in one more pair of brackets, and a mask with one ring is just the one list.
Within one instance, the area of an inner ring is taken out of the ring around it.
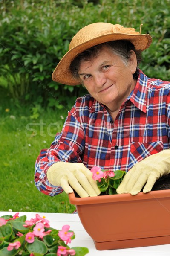
{"label": "large rounded green leaf near bottom edge, middle of lower-left plant cluster", "polygon": [[26,243],[26,249],[29,251],[29,253],[34,253],[35,256],[36,253],[44,255],[48,251],[46,244],[40,240],[35,240],[32,244]]}

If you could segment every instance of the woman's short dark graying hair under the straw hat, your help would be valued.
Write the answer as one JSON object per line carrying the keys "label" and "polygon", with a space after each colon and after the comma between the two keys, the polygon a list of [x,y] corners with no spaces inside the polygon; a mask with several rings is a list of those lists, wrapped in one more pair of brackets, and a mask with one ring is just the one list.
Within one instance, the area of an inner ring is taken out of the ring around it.
{"label": "woman's short dark graying hair under the straw hat", "polygon": [[[132,50],[136,54],[137,64],[141,62],[141,50],[136,50],[135,46],[127,40],[116,40],[116,41],[110,41],[103,44],[95,45],[84,52],[78,54],[75,59],[70,64],[70,71],[72,73],[72,76],[74,79],[78,79],[79,75],[79,67],[82,61],[92,61],[94,58],[96,58],[101,50],[107,47],[110,52],[112,52],[115,55],[118,55],[124,64],[127,66],[127,63],[130,59],[130,55],[132,54]],[[138,70],[136,69],[136,72],[133,74],[133,78],[136,78],[138,76]]]}

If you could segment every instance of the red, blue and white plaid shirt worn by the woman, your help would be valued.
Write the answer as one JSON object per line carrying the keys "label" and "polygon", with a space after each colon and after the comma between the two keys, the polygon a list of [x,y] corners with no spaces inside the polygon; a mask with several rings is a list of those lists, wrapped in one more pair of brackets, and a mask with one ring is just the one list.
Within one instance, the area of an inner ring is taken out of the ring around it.
{"label": "red, blue and white plaid shirt worn by the woman", "polygon": [[58,161],[128,171],[145,157],[170,148],[170,82],[139,71],[115,122],[91,95],[77,99],[61,133],[37,158],[35,184],[40,191],[51,196],[63,191],[46,177],[49,166]]}

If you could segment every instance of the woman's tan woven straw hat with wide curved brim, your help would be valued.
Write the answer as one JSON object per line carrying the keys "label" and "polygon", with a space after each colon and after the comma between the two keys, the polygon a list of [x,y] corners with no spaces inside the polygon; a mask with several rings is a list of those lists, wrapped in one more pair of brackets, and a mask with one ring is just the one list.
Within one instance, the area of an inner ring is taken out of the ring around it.
{"label": "woman's tan woven straw hat with wide curved brim", "polygon": [[135,31],[134,28],[124,28],[119,24],[113,25],[105,22],[85,26],[72,38],[69,51],[66,52],[52,73],[52,80],[67,85],[81,84],[80,79],[73,78],[69,70],[70,63],[79,53],[97,44],[115,40],[129,40],[134,44],[135,49],[141,51],[147,49],[152,42],[152,37],[149,34],[141,35],[140,32]]}

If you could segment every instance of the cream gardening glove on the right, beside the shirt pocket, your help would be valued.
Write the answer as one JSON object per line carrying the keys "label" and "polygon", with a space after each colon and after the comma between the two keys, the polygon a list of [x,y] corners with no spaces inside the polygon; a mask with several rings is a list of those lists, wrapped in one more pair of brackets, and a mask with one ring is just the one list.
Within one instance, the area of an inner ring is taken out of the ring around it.
{"label": "cream gardening glove on the right, beside the shirt pocket", "polygon": [[146,184],[143,192],[150,192],[156,180],[168,173],[170,173],[170,149],[165,149],[136,163],[124,176],[116,191],[118,194],[136,195]]}

